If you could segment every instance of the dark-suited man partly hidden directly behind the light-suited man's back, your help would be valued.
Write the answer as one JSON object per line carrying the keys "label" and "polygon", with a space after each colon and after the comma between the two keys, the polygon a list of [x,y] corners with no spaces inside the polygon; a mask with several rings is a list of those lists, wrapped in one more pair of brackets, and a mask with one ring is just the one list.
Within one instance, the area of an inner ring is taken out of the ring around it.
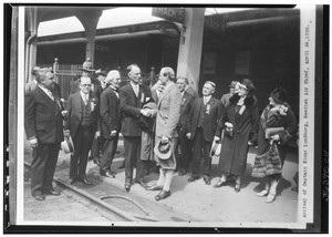
{"label": "dark-suited man partly hidden directly behind the light-suited man's back", "polygon": [[179,144],[181,150],[181,156],[179,158],[179,175],[187,174],[189,163],[193,157],[193,144],[191,141],[186,136],[188,114],[190,111],[190,103],[198,97],[198,94],[194,90],[189,90],[188,79],[179,76],[176,80],[176,85],[181,93],[181,110],[180,118],[177,126],[179,134]]}

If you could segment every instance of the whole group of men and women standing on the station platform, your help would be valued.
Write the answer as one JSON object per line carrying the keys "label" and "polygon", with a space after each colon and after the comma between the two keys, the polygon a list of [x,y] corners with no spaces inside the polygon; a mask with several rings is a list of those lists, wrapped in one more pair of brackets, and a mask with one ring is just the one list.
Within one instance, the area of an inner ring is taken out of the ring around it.
{"label": "whole group of men and women standing on the station platform", "polygon": [[[188,80],[176,78],[175,71],[168,66],[162,68],[158,81],[151,86],[142,83],[137,64],[131,64],[126,70],[129,80],[123,85],[120,71],[94,72],[97,80],[93,82],[93,70],[85,66],[76,82],[76,90],[65,103],[53,93],[52,71],[34,71],[37,86],[25,94],[24,126],[34,151],[31,194],[35,199],[60,195],[52,187],[52,179],[63,140],[73,143],[70,183],[92,185],[85,173],[89,152],[100,166],[100,174],[114,178],[116,173],[111,167],[122,134],[124,188],[127,192],[137,183],[146,190],[159,190],[156,200],[165,199],[170,196],[174,172],[178,169],[180,176],[187,174],[190,163],[193,173],[188,182],[203,177],[205,184],[210,185],[210,151],[212,144],[219,143],[220,179],[214,187],[219,188],[235,179],[235,192],[240,192],[249,146],[258,146],[258,158],[276,146],[280,164],[261,159],[260,163],[255,162],[256,171],[266,178],[264,189],[257,195],[267,196],[267,203],[274,200],[287,143],[298,130],[284,89],[277,87],[271,92],[269,104],[260,115],[255,85],[248,79],[231,82],[230,93],[218,100],[212,96],[216,90],[214,82],[204,83],[203,96],[199,97]],[[268,136],[270,127],[282,130]],[[159,169],[154,185],[144,182],[151,163]],[[274,172],[271,172],[271,165]]]}

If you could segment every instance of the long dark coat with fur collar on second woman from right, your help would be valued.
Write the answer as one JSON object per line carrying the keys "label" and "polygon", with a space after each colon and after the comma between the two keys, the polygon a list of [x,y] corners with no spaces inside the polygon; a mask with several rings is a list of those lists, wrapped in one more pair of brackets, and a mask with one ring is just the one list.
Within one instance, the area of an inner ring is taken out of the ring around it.
{"label": "long dark coat with fur collar on second woman from right", "polygon": [[229,104],[220,120],[221,127],[226,122],[231,123],[234,132],[232,137],[226,133],[224,135],[218,166],[221,173],[241,176],[246,172],[250,132],[252,132],[252,141],[257,141],[259,112],[253,95],[247,95],[245,99],[246,109],[241,115],[236,111],[238,101],[238,94],[229,99]]}

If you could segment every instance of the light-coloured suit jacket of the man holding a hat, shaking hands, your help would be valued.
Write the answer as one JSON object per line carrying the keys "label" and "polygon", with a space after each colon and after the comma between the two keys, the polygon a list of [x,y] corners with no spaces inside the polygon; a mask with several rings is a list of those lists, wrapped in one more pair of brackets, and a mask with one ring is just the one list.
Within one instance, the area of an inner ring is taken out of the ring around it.
{"label": "light-coloured suit jacket of the man holding a hat, shaking hands", "polygon": [[176,84],[169,85],[160,95],[156,118],[156,136],[177,137],[181,94]]}

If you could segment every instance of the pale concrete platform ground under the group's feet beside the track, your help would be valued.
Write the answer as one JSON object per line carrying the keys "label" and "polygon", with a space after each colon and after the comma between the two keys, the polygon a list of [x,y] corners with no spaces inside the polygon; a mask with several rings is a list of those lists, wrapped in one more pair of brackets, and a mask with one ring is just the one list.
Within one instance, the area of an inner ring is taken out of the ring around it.
{"label": "pale concrete platform ground under the group's feet beside the track", "polygon": [[[117,173],[116,178],[100,177],[103,182],[124,188],[124,169],[118,169],[123,162],[123,143],[120,142],[120,154],[115,156],[112,169]],[[148,192],[138,184],[132,186],[129,195],[158,203],[163,208],[187,216],[190,221],[205,221],[204,226],[211,223],[212,226],[220,226],[222,223],[295,223],[298,212],[298,193],[291,190],[295,186],[294,176],[298,172],[298,153],[291,148],[284,163],[282,179],[277,189],[277,198],[271,204],[264,203],[264,197],[258,197],[255,192],[263,187],[260,181],[250,176],[255,159],[255,148],[248,155],[247,171],[242,177],[240,193],[235,193],[234,183],[229,186],[214,188],[218,181],[218,159],[212,159],[212,181],[207,186],[200,178],[188,183],[190,173],[179,176],[176,172],[172,181],[170,197],[156,202],[158,192]],[[58,168],[69,165],[70,156],[60,152]],[[98,176],[98,167],[92,162],[87,165],[89,176]],[[68,177],[62,177],[68,179]],[[154,184],[158,179],[157,173],[152,173],[145,177],[148,184]]]}

